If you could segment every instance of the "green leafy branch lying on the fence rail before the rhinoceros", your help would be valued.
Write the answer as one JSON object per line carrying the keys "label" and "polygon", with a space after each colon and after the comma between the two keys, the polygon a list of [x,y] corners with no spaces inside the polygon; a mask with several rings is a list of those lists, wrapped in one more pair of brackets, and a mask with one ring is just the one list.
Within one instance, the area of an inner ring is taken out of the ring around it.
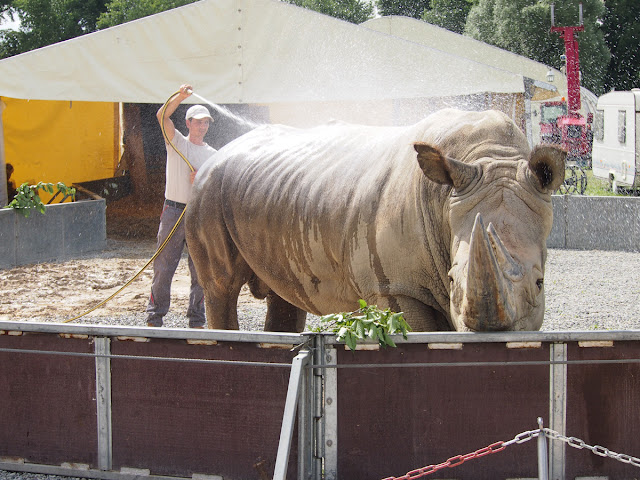
{"label": "green leafy branch lying on the fence rail before the rhinoceros", "polygon": [[395,347],[391,335],[400,333],[407,338],[411,327],[402,316],[390,309],[380,310],[376,305],[367,305],[360,299],[360,308],[353,312],[332,313],[320,318],[323,323],[316,331],[331,331],[338,341],[344,342],[351,350],[356,349],[359,340],[377,340],[382,347]]}

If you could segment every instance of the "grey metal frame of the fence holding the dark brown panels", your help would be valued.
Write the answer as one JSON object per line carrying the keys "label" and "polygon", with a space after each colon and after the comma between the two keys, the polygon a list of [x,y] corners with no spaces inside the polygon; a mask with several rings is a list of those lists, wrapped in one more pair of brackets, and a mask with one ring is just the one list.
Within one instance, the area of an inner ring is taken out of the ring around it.
{"label": "grey metal frame of the fence holding the dark brown panels", "polygon": [[[55,475],[128,480],[135,478],[177,479],[144,474],[116,472],[112,464],[111,426],[111,338],[162,338],[196,341],[249,342],[258,344],[293,345],[301,347],[293,359],[283,412],[274,480],[287,478],[289,454],[294,442],[297,419],[298,479],[337,480],[338,472],[338,348],[345,348],[335,336],[327,334],[289,334],[237,332],[219,330],[187,330],[167,328],[103,327],[54,323],[22,323],[0,321],[0,334],[10,332],[53,333],[89,336],[94,341],[96,372],[96,412],[98,435],[97,469],[81,465],[40,465],[13,459],[0,459],[0,469],[47,473]],[[640,340],[640,331],[589,332],[499,332],[499,333],[415,333],[395,339],[402,344],[549,342],[549,428],[566,434],[567,417],[567,342],[615,342]],[[2,350],[2,349],[0,349]],[[5,349],[6,350],[6,349]],[[34,352],[37,353],[37,352]],[[87,355],[58,352],[61,355]],[[90,354],[89,354],[90,355]],[[250,360],[250,359],[249,359]],[[215,360],[213,360],[215,361]],[[250,362],[234,362],[237,364]],[[282,366],[286,366],[283,364]],[[358,365],[350,365],[357,367]],[[370,368],[372,365],[362,365]],[[382,367],[386,365],[381,365]],[[398,365],[395,365],[397,367]],[[405,365],[413,366],[415,364]],[[437,368],[437,367],[434,367]],[[544,452],[540,450],[544,449]],[[550,442],[539,447],[540,458],[548,460],[548,470],[540,478],[565,479],[566,452],[562,442]],[[542,465],[542,463],[540,464]],[[216,478],[212,476],[212,478]]]}

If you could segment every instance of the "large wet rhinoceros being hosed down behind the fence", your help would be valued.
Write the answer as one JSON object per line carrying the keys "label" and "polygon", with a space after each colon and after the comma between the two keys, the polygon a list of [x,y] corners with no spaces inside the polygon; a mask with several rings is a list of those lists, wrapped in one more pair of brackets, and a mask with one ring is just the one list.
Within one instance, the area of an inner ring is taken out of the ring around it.
{"label": "large wet rhinoceros being hosed down behind the fence", "polygon": [[362,298],[414,330],[538,330],[551,193],[565,153],[497,111],[408,127],[259,127],[198,173],[186,212],[208,326],[237,329],[249,283],[265,330]]}

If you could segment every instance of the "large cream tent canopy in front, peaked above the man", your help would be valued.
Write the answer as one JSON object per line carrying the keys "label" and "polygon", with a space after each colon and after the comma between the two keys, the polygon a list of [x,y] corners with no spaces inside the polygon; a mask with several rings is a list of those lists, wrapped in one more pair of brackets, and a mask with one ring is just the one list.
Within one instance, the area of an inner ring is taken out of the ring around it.
{"label": "large cream tent canopy in front, peaked above the man", "polygon": [[216,103],[520,93],[521,74],[277,0],[201,0],[0,60],[0,95]]}

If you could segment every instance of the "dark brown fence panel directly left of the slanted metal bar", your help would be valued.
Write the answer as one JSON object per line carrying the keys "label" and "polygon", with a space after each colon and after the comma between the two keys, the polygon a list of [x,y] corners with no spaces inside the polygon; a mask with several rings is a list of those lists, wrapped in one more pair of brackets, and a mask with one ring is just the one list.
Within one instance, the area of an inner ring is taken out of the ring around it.
{"label": "dark brown fence panel directly left of the slanted metal bar", "polygon": [[[255,344],[113,341],[114,355],[290,364],[297,352]],[[289,368],[113,359],[113,462],[152,474],[271,478]],[[297,449],[288,478],[295,479]]]}

